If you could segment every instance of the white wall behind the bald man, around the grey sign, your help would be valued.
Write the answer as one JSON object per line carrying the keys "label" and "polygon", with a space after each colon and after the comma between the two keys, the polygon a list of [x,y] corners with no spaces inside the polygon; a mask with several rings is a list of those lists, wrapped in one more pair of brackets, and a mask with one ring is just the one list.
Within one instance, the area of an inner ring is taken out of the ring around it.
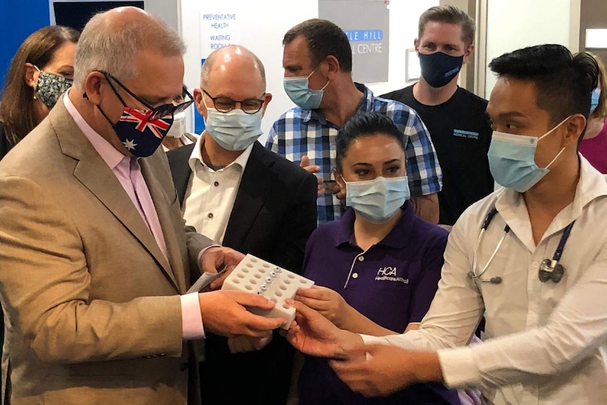
{"label": "white wall behind the bald man, around the grey sign", "polygon": [[[405,49],[413,48],[420,14],[437,4],[438,0],[390,2],[389,76],[387,83],[370,86],[375,94],[406,85]],[[294,106],[282,89],[282,37],[294,25],[318,17],[318,0],[181,0],[182,35],[188,46],[184,82],[190,89],[199,87],[200,61],[210,52],[209,22],[201,15],[213,13],[235,13],[236,20],[230,22],[229,29],[214,31],[230,32],[230,43],[251,49],[265,65],[268,92],[274,96],[263,118],[263,131],[267,133],[274,121]],[[202,40],[201,35],[204,36]],[[263,136],[261,140],[265,140]]]}

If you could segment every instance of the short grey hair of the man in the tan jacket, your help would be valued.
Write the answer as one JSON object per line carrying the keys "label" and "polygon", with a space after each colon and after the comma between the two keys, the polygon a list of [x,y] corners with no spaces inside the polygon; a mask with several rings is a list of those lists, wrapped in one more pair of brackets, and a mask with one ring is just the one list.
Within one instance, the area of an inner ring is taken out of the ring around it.
{"label": "short grey hair of the man in the tan jacket", "polygon": [[137,73],[134,59],[152,49],[165,56],[182,56],[185,44],[171,27],[152,15],[134,18],[128,24],[115,23],[106,15],[93,16],[85,25],[76,47],[74,83],[84,86],[89,73],[104,70],[120,80],[131,80]]}

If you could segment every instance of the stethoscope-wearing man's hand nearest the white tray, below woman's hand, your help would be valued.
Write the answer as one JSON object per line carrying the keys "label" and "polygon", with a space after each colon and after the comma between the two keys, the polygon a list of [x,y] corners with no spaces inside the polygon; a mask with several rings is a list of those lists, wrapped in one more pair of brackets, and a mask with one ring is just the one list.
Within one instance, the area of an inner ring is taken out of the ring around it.
{"label": "stethoscope-wearing man's hand nearest the white tray, below woman's hand", "polygon": [[286,336],[295,349],[311,356],[344,359],[344,347],[363,342],[360,336],[337,328],[302,302],[292,299],[284,301],[297,311]]}

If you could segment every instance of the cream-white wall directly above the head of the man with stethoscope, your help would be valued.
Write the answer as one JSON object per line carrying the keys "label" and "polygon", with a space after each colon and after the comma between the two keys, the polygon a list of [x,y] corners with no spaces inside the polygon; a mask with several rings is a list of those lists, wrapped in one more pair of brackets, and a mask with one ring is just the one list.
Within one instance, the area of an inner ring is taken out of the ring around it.
{"label": "cream-white wall directly above the head of the man with stethoscope", "polygon": [[[579,0],[487,0],[484,65],[506,52],[538,44],[561,44],[575,52],[579,20]],[[495,82],[494,74],[486,68],[485,98]]]}

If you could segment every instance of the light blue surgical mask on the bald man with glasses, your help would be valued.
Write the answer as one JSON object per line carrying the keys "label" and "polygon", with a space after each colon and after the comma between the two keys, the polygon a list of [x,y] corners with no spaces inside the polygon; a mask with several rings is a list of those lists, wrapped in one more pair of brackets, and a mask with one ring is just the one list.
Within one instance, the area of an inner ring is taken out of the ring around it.
{"label": "light blue surgical mask on the bald man with glasses", "polygon": [[[206,106],[206,102],[204,101]],[[205,130],[220,147],[227,151],[242,151],[250,147],[263,133],[261,118],[263,108],[254,114],[247,114],[240,108],[222,113],[215,108],[206,107]]]}

